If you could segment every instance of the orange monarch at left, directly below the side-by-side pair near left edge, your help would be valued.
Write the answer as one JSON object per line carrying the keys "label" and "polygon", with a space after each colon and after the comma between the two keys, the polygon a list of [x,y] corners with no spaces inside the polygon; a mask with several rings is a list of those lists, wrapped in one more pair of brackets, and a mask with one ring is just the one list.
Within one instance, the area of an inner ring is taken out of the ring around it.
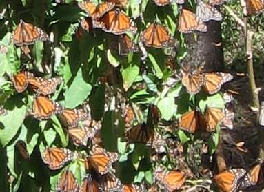
{"label": "orange monarch at left, directly below the side-by-side pair near left edge", "polygon": [[48,97],[37,96],[33,101],[33,115],[36,119],[49,119],[52,115],[62,113],[63,107]]}

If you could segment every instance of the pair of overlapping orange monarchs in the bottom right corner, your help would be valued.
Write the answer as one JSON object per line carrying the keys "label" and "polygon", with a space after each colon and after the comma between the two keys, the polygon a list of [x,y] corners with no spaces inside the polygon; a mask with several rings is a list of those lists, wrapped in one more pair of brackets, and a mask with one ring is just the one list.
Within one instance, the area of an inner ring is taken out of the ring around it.
{"label": "pair of overlapping orange monarchs in the bottom right corner", "polygon": [[214,182],[223,192],[234,192],[246,189],[258,183],[261,177],[261,165],[256,164],[249,171],[243,168],[234,168],[214,175]]}

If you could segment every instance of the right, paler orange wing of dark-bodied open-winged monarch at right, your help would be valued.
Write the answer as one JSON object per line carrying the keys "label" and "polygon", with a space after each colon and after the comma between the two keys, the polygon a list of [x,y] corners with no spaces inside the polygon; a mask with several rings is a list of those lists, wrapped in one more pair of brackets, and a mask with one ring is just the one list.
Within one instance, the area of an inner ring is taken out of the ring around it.
{"label": "right, paler orange wing of dark-bodied open-winged monarch at right", "polygon": [[214,131],[217,124],[225,117],[221,108],[206,108],[203,115],[207,131]]}

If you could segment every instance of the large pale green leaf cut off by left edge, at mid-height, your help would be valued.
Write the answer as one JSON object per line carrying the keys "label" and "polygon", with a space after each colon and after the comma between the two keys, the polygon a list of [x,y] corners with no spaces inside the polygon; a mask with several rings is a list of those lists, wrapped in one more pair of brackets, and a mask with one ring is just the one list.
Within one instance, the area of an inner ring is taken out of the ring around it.
{"label": "large pale green leaf cut off by left edge, at mid-height", "polygon": [[6,102],[5,107],[12,110],[8,110],[7,115],[0,116],[0,142],[3,146],[6,146],[14,135],[17,134],[27,111],[26,106],[21,100],[14,97]]}

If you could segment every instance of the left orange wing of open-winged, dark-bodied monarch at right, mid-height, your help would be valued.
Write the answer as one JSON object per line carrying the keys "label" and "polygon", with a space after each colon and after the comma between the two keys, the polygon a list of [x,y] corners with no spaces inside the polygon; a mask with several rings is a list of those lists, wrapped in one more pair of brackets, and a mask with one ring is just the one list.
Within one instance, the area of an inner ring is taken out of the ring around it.
{"label": "left orange wing of open-winged, dark-bodied monarch at right, mid-height", "polygon": [[199,127],[199,112],[193,110],[187,113],[184,113],[181,116],[179,126],[182,130],[187,131],[189,133],[194,133],[196,129]]}

